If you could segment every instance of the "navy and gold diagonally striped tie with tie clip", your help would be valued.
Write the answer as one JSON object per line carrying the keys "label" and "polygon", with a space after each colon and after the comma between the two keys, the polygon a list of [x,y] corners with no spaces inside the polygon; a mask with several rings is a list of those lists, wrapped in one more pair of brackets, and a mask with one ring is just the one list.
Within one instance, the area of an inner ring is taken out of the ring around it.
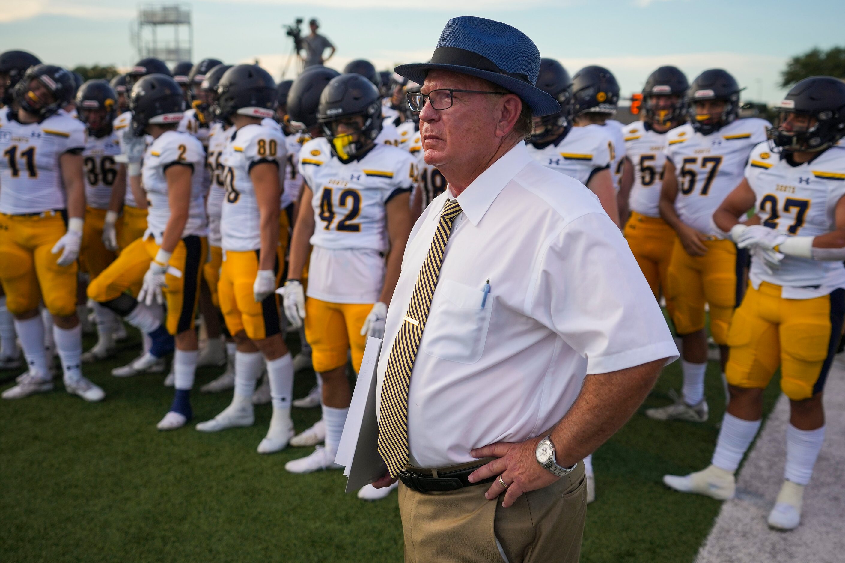
{"label": "navy and gold diagonally striped tie with tie clip", "polygon": [[452,232],[452,222],[460,213],[461,205],[458,205],[457,200],[446,200],[423,269],[417,276],[411,304],[408,305],[408,312],[402,320],[387,360],[381,388],[378,449],[391,477],[395,477],[408,464],[408,388],[411,386],[411,371],[423,339],[440,266],[443,265],[446,241]]}

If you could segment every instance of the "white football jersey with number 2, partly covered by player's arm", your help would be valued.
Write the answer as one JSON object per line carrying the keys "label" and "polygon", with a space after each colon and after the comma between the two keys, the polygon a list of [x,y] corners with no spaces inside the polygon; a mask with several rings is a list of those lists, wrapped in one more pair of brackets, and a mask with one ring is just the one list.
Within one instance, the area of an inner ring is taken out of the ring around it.
{"label": "white football jersey with number 2, partly covered by player's arm", "polygon": [[147,147],[144,166],[141,168],[141,180],[147,193],[147,230],[144,238],[150,234],[155,243],[161,244],[161,236],[167,221],[170,220],[170,201],[168,200],[168,167],[188,165],[194,169],[191,174],[191,201],[188,206],[188,222],[182,232],[182,238],[189,235],[204,237],[208,233],[205,221],[205,186],[202,169],[205,164],[205,151],[202,143],[188,133],[165,131],[152,145]]}

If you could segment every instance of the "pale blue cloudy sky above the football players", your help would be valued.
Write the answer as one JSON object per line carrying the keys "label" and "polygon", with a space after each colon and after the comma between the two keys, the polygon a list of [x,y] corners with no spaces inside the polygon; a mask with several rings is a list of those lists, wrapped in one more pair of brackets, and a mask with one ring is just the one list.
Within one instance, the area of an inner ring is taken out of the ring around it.
{"label": "pale blue cloudy sky above the football players", "polygon": [[[137,4],[120,0],[8,0],[0,11],[0,51],[21,48],[48,63],[112,63],[138,58],[129,43]],[[574,74],[602,64],[624,95],[662,64],[693,79],[706,68],[732,72],[744,99],[777,101],[788,57],[814,46],[845,44],[842,0],[210,0],[194,11],[194,60],[260,63],[279,77],[290,50],[281,25],[317,17],[338,46],[330,66],[364,57],[378,68],[427,59],[446,20],[479,15],[514,25],[544,57]],[[355,6],[355,8],[351,8]],[[799,7],[800,6],[800,7]],[[306,26],[307,27],[307,26]]]}

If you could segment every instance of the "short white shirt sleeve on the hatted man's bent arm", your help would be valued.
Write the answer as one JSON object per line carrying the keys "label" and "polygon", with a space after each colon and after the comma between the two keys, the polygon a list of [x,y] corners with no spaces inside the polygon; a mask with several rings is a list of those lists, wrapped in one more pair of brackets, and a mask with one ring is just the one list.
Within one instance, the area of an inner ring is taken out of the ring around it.
{"label": "short white shirt sleeve on the hatted man's bent arm", "polygon": [[679,357],[646,278],[608,216],[571,221],[537,263],[526,314],[586,358],[587,374]]}

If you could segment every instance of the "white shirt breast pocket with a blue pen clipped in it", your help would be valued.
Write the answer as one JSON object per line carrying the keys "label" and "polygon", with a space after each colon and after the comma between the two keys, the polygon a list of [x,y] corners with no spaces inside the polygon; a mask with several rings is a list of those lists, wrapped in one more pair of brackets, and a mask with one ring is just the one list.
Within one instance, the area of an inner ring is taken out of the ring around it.
{"label": "white shirt breast pocket with a blue pen clipped in it", "polygon": [[423,352],[457,363],[476,363],[484,352],[493,296],[452,280],[440,280],[438,302],[428,314],[423,332]]}

